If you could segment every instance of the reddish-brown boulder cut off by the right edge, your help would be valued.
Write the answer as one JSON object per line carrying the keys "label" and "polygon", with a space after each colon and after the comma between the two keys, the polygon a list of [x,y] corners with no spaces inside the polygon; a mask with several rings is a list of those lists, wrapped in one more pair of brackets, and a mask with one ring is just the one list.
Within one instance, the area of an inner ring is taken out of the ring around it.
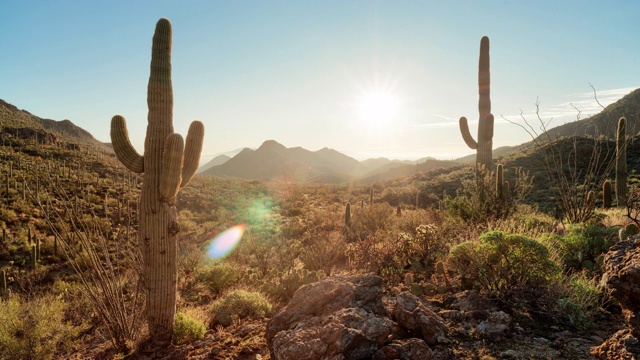
{"label": "reddish-brown boulder cut off by the right edge", "polygon": [[640,337],[640,235],[613,245],[604,258],[602,282],[618,300],[625,321]]}

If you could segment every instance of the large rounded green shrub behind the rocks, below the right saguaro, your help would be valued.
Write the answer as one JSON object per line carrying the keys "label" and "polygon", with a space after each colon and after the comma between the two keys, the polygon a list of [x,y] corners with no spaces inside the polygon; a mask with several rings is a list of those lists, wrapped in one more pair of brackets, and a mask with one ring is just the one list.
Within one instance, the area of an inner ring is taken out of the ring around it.
{"label": "large rounded green shrub behind the rocks, below the right saguaro", "polygon": [[454,246],[449,264],[488,295],[503,299],[526,298],[548,285],[556,270],[544,245],[500,231],[483,234],[479,243]]}

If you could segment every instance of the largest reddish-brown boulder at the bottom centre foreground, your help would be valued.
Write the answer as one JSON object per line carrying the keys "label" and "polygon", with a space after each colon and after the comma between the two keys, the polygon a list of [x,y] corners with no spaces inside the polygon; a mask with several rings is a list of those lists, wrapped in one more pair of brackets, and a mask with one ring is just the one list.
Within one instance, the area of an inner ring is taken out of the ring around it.
{"label": "largest reddish-brown boulder at the bottom centre foreground", "polygon": [[267,324],[271,359],[369,359],[394,323],[382,303],[382,280],[333,276],[298,289]]}

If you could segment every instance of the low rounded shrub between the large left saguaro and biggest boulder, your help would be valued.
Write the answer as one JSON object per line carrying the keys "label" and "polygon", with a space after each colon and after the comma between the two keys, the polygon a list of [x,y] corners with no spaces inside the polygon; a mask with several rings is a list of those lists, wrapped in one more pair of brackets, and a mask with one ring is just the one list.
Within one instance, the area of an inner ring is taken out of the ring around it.
{"label": "low rounded shrub between the large left saguaro and biggest boulder", "polygon": [[240,319],[268,316],[272,310],[273,306],[261,293],[234,290],[213,304],[211,325],[229,326]]}

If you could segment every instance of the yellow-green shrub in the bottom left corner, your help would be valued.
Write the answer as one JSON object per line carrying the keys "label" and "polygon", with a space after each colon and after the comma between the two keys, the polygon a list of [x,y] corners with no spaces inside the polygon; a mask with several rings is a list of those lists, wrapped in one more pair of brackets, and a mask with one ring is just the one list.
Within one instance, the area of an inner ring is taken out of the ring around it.
{"label": "yellow-green shrub in the bottom left corner", "polygon": [[52,359],[71,349],[82,330],[65,322],[65,304],[54,296],[0,299],[0,358]]}

